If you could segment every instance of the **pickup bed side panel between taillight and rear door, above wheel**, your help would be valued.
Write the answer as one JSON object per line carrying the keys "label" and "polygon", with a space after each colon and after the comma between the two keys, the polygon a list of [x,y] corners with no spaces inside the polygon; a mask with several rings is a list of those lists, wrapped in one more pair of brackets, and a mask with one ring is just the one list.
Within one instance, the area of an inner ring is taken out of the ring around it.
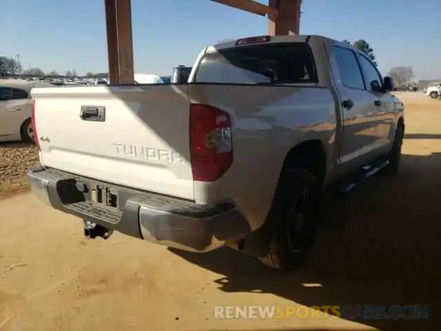
{"label": "pickup bed side panel between taillight and rear door, above wheel", "polygon": [[332,163],[337,118],[327,88],[192,84],[189,97],[229,112],[234,127],[232,168],[214,183],[195,182],[195,199],[233,199],[253,230],[266,219],[291,148],[320,139]]}

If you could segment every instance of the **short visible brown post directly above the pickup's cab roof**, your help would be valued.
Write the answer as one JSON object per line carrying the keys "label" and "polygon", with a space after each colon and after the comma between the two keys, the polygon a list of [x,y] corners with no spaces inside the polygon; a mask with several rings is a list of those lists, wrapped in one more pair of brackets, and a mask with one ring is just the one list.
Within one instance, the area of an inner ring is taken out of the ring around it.
{"label": "short visible brown post directly above the pickup's cab roof", "polygon": [[271,36],[300,33],[300,5],[302,0],[269,0],[269,7],[278,14],[270,14],[268,34]]}

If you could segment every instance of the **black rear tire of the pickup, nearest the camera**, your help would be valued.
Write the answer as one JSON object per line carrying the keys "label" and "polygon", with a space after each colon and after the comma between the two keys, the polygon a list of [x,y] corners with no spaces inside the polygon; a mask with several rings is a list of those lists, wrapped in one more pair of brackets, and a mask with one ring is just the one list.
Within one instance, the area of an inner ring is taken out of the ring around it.
{"label": "black rear tire of the pickup, nearest the camera", "polygon": [[292,270],[305,260],[319,225],[320,185],[307,170],[287,169],[280,176],[267,221],[269,250],[259,257],[265,265]]}

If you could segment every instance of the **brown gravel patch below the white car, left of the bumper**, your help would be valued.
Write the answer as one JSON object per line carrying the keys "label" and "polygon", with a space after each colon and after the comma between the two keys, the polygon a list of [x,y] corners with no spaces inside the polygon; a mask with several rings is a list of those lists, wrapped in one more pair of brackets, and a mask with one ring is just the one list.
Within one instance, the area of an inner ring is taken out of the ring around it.
{"label": "brown gravel patch below the white car, left of the bumper", "polygon": [[38,159],[30,143],[0,143],[0,199],[29,189],[26,170]]}

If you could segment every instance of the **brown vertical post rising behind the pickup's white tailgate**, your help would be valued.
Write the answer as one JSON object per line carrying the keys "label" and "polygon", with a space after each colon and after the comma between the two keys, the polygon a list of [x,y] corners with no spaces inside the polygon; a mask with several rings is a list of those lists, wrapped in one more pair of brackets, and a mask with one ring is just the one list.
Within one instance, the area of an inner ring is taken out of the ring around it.
{"label": "brown vertical post rising behind the pickup's white tailgate", "polygon": [[134,82],[131,0],[104,0],[109,79],[112,84]]}

